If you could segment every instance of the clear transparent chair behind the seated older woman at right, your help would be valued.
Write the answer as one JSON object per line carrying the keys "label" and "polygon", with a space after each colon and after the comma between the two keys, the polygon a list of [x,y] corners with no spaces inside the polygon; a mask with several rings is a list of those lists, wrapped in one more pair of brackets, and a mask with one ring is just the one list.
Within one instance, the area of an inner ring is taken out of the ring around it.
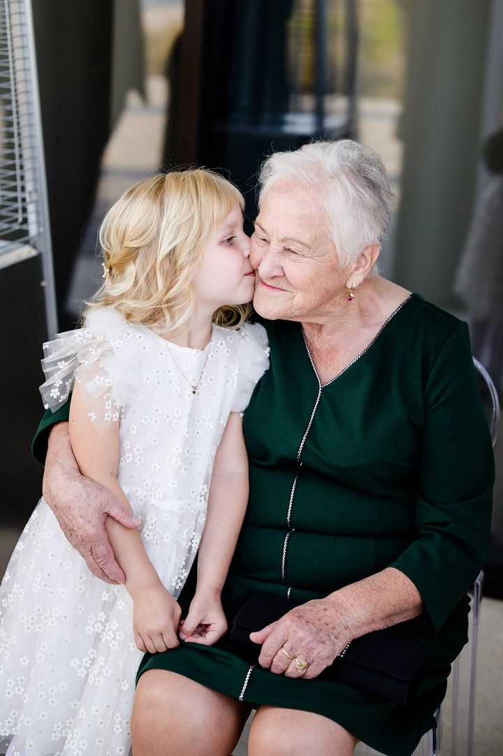
{"label": "clear transparent chair behind the seated older woman at right", "polygon": [[[498,392],[492,382],[491,376],[483,364],[474,358],[474,366],[477,370],[477,385],[479,387],[480,398],[486,411],[487,423],[491,434],[492,446],[494,447],[498,438],[498,426],[500,420],[500,407]],[[468,689],[468,711],[465,720],[466,737],[463,736],[464,743],[459,737],[461,729],[461,716],[459,711],[459,688],[461,677],[461,658],[458,656],[452,664],[452,737],[451,737],[451,756],[471,756],[474,741],[474,705],[475,705],[475,671],[477,668],[477,637],[479,631],[479,613],[480,600],[482,598],[484,573],[480,572],[477,580],[468,591],[472,601],[472,610],[470,614],[470,671],[469,671],[469,689]],[[438,709],[435,713],[437,723],[436,730],[430,730],[421,739],[418,748],[414,751],[413,756],[438,756],[440,752],[440,742],[442,740],[442,717]],[[464,749],[465,748],[465,749]]]}

